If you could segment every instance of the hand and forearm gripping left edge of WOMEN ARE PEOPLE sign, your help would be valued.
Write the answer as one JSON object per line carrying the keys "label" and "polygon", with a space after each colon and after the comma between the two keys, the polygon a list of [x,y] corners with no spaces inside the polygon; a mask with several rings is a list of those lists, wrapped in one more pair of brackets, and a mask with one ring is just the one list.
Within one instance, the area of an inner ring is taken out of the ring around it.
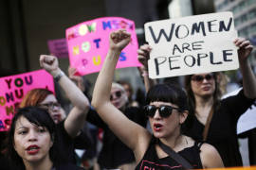
{"label": "hand and forearm gripping left edge of WOMEN ARE PEOPLE sign", "polygon": [[137,59],[143,65],[140,69],[141,75],[143,76],[144,85],[146,92],[156,84],[155,79],[151,79],[148,73],[148,59],[152,48],[148,44],[143,44],[137,50]]}

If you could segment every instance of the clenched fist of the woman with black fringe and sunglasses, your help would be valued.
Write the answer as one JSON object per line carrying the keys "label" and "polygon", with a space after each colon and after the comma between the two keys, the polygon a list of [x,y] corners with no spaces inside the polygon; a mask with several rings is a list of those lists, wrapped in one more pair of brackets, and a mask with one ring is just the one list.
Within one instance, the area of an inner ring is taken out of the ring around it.
{"label": "clenched fist of the woman with black fringe and sunglasses", "polygon": [[119,51],[131,42],[131,34],[124,29],[119,29],[110,34],[109,48],[114,51]]}

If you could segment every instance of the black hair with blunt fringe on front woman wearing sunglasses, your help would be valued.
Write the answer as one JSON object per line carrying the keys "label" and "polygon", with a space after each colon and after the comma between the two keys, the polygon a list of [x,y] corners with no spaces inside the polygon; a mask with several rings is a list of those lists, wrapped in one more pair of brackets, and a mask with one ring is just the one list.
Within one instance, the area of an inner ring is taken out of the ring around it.
{"label": "black hair with blunt fringe on front woman wearing sunglasses", "polygon": [[188,98],[185,91],[173,84],[157,84],[146,96],[146,103],[161,101],[177,105],[179,111],[188,110]]}

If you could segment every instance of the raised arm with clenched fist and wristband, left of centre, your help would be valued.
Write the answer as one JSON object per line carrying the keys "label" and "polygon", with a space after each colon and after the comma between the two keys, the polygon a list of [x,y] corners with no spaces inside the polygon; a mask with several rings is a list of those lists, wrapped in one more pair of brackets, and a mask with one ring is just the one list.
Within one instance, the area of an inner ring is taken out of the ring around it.
{"label": "raised arm with clenched fist and wristband, left of centre", "polygon": [[[54,56],[41,55],[40,65],[53,77],[63,73],[59,68],[58,59]],[[64,121],[64,128],[70,137],[75,137],[85,122],[89,110],[89,102],[81,90],[67,76],[61,76],[59,84],[74,106]]]}

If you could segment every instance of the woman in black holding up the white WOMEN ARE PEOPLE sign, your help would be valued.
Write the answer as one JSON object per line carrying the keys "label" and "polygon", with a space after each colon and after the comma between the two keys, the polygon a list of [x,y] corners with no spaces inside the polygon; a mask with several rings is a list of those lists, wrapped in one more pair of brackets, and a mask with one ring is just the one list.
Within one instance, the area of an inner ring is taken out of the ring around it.
{"label": "woman in black holding up the white WOMEN ARE PEOPLE sign", "polygon": [[[256,97],[256,80],[247,59],[252,45],[242,38],[236,39],[234,43],[239,48],[243,91],[220,100],[223,91],[222,73],[185,76],[190,114],[183,126],[184,133],[195,141],[204,141],[215,146],[225,166],[243,165],[236,126],[239,117],[252,105]],[[138,50],[138,59],[146,68],[151,50],[148,44],[140,46]]]}

